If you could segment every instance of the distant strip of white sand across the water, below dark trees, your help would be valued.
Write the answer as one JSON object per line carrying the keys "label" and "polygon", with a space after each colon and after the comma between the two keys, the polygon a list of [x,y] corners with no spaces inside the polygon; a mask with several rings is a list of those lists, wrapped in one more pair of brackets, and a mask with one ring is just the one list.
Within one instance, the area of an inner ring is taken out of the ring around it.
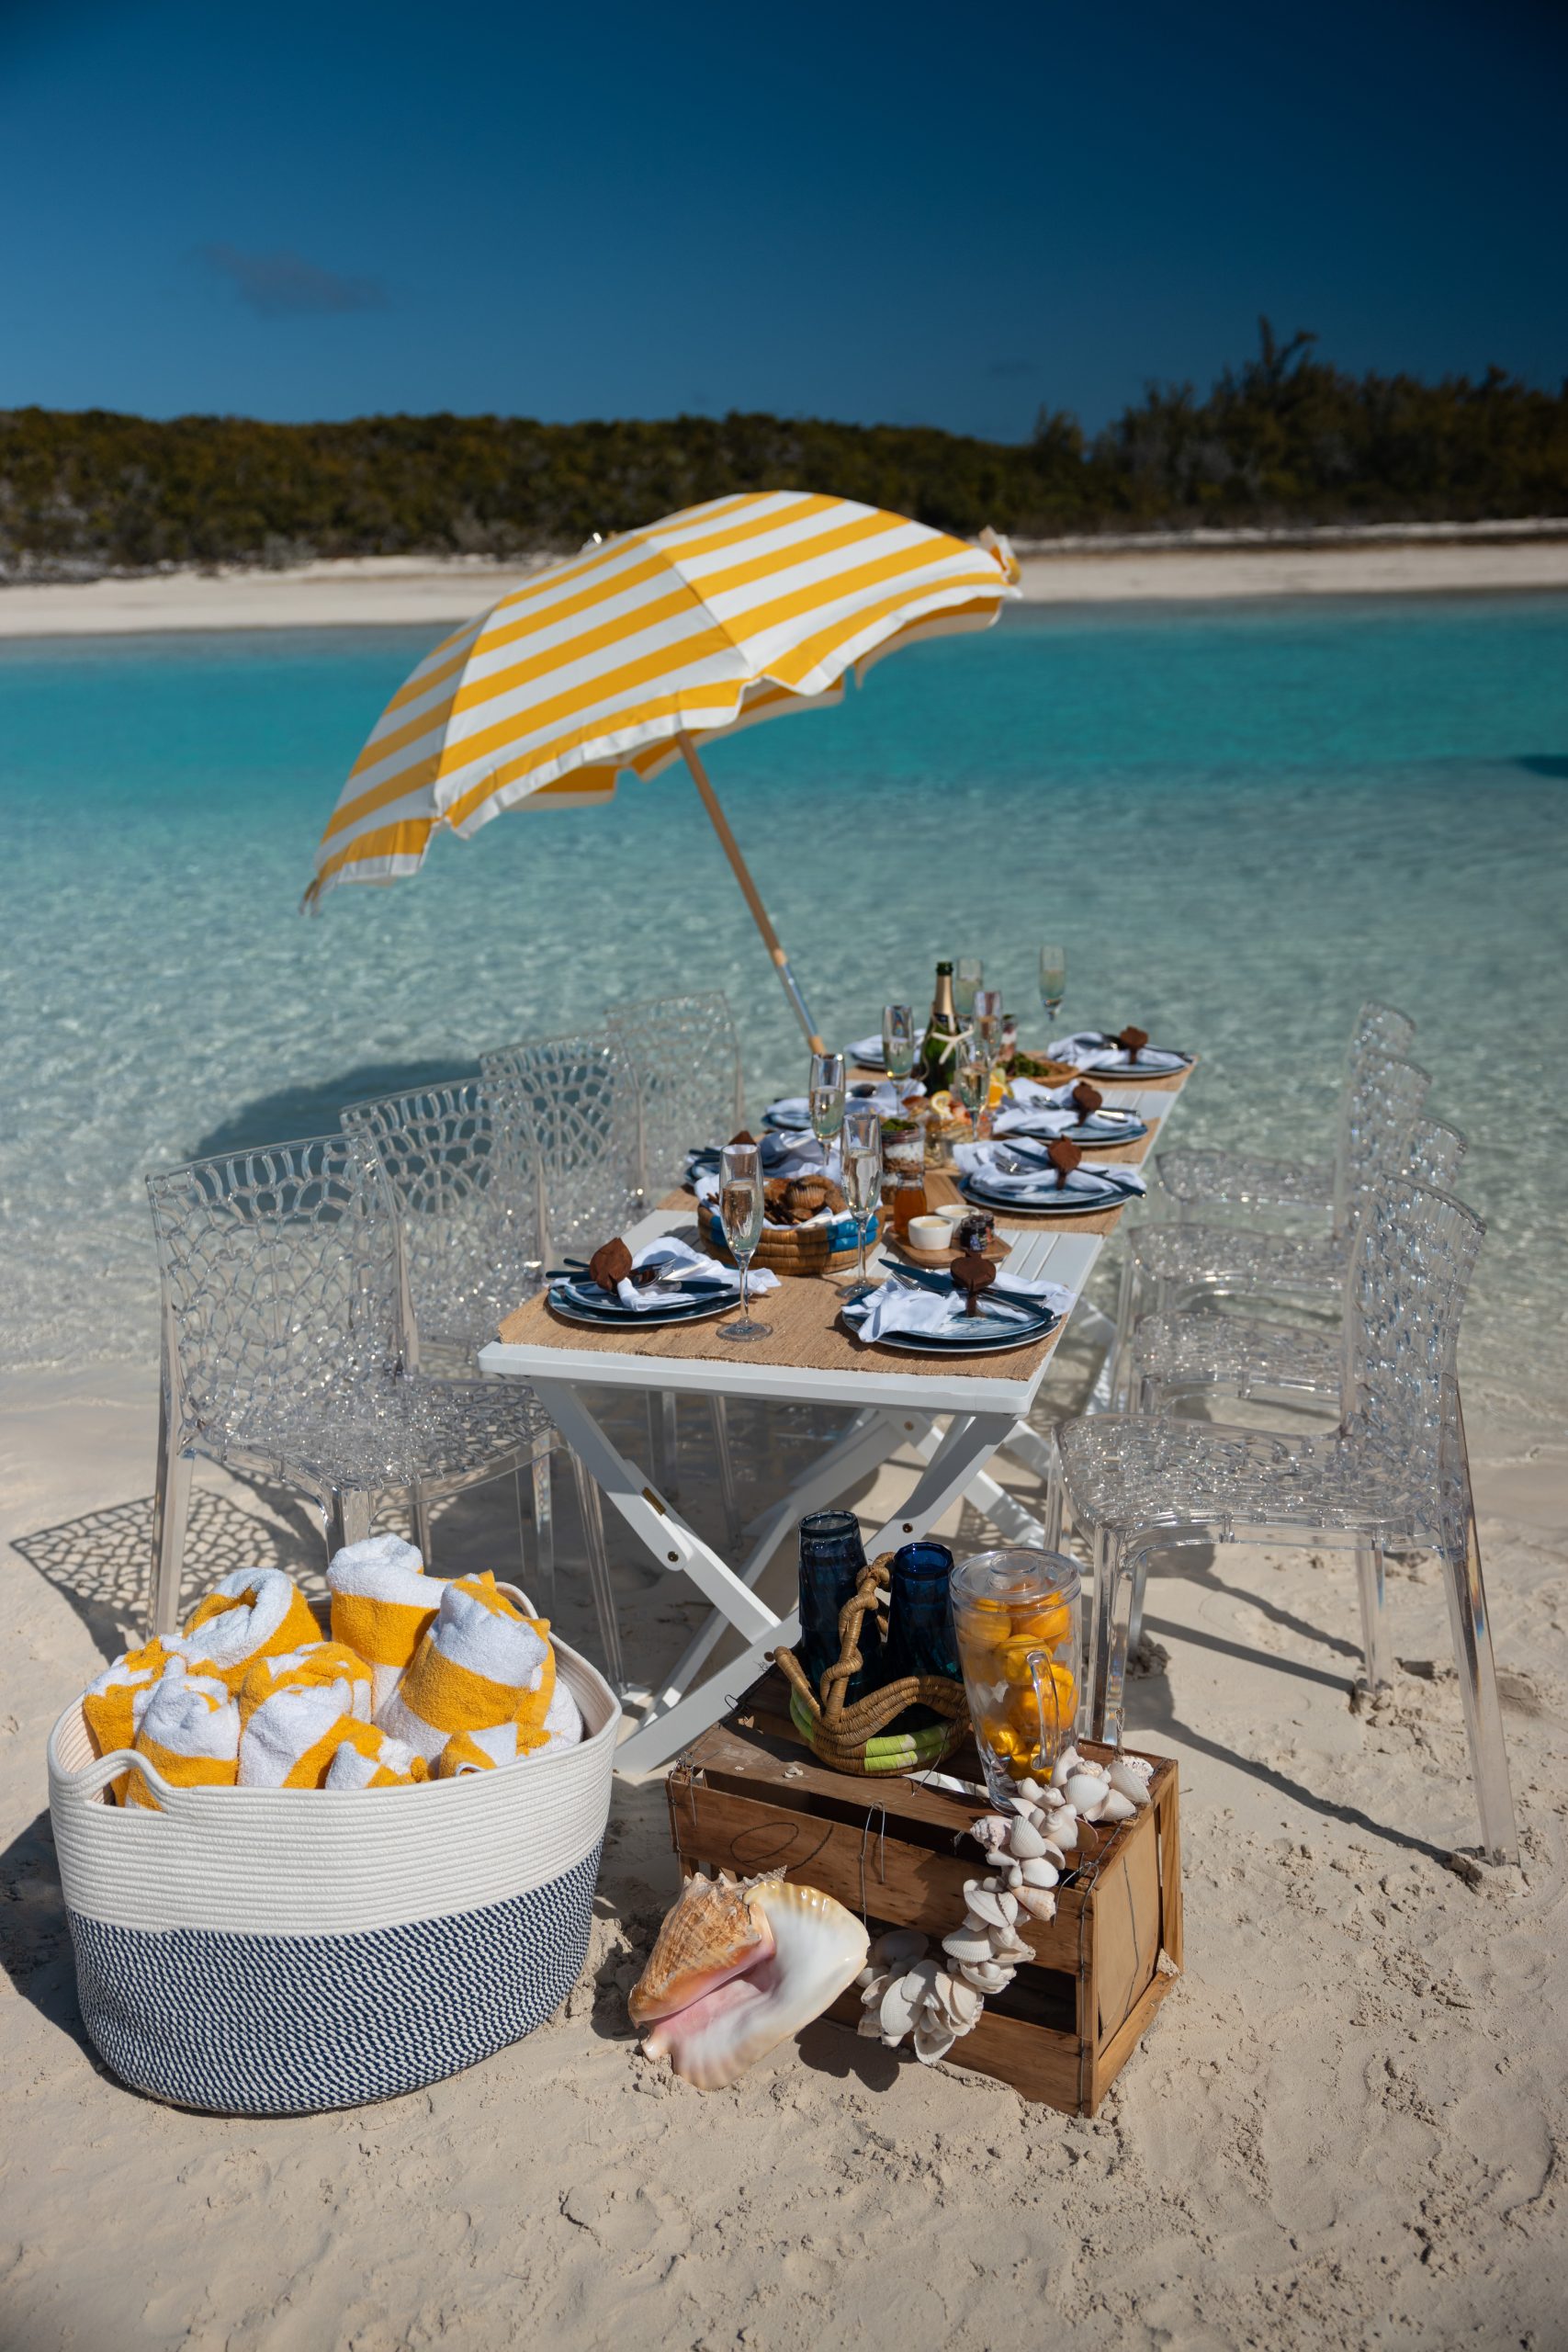
{"label": "distant strip of white sand across the water, below dark trees", "polygon": [[[552,562],[541,557],[538,562]],[[0,583],[0,637],[96,637],[169,628],[329,628],[463,621],[538,564],[367,555],[292,572],[167,572],[82,583]],[[1420,595],[1568,588],[1568,536],[1488,541],[1382,536],[1324,546],[1081,543],[1023,555],[1032,604],[1237,595]]]}

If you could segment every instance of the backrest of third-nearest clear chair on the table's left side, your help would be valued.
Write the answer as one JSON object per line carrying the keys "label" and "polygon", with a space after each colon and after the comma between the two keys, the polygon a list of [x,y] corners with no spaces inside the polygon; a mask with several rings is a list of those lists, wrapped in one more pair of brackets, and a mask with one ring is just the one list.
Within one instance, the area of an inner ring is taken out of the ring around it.
{"label": "backrest of third-nearest clear chair on the table's left side", "polygon": [[534,1037],[480,1056],[543,1185],[543,1247],[597,1249],[642,1214],[637,1073],[614,1037]]}

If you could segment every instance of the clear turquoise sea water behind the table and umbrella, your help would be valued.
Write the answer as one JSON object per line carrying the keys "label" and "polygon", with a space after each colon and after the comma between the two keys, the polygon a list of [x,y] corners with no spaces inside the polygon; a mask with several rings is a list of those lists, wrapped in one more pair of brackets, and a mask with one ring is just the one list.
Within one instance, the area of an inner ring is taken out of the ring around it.
{"label": "clear turquoise sea water behind the table and umbrella", "polygon": [[[618,995],[726,988],[752,1094],[799,1035],[691,786],[510,816],[301,920],[310,851],[435,630],[0,644],[0,1352],[148,1355],[141,1174]],[[1197,1047],[1182,1136],[1328,1150],[1356,1002],[1420,1018],[1490,1221],[1472,1376],[1568,1402],[1568,597],[1013,612],[710,767],[816,1016],[980,953],[1039,1037]]]}

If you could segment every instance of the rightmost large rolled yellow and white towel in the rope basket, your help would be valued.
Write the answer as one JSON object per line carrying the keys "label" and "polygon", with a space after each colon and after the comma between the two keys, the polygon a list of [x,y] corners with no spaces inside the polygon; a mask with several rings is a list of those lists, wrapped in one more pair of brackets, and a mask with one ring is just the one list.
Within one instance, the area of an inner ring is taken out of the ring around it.
{"label": "rightmost large rolled yellow and white towel in the rope basket", "polygon": [[[524,1708],[550,1708],[555,1653],[543,1618],[527,1618],[496,1578],[456,1576],[442,1585],[435,1623],[376,1722],[435,1762],[454,1731],[512,1724]],[[550,1689],[545,1689],[545,1679]]]}

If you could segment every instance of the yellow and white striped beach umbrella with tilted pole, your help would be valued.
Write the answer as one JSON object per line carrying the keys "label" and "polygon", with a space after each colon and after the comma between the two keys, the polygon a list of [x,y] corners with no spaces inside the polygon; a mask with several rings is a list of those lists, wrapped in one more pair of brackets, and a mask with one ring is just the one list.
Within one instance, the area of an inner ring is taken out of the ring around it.
{"label": "yellow and white striped beach umbrella with tilted pole", "polygon": [[[393,882],[430,837],[503,809],[609,800],[686,757],[752,913],[750,875],[691,739],[837,701],[844,673],[1016,595],[1006,541],[806,492],[741,492],[585,548],[465,621],[376,722],[315,856],[308,901]],[[795,990],[792,990],[795,993]],[[799,1009],[799,1007],[797,1007]]]}

